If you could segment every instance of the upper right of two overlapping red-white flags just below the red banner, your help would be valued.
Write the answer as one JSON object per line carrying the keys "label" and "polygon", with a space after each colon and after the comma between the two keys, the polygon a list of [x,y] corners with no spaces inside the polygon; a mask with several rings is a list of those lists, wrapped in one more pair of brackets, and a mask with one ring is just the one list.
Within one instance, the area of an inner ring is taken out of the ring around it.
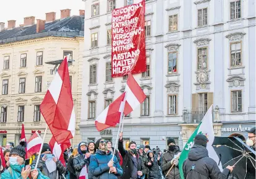
{"label": "upper right of two overlapping red-white flags just below the red banner", "polygon": [[135,110],[138,105],[144,102],[146,95],[130,73],[125,86],[126,102],[125,110],[123,113],[128,115],[131,111]]}

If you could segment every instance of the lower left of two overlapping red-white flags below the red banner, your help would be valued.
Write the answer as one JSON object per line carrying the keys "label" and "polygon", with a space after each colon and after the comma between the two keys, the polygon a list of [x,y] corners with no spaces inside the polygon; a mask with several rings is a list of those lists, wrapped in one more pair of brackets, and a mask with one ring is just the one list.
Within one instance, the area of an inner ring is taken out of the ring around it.
{"label": "lower left of two overlapping red-white flags below the red banner", "polygon": [[112,127],[120,123],[125,107],[126,92],[120,95],[114,102],[108,105],[102,113],[96,118],[95,126],[98,131]]}

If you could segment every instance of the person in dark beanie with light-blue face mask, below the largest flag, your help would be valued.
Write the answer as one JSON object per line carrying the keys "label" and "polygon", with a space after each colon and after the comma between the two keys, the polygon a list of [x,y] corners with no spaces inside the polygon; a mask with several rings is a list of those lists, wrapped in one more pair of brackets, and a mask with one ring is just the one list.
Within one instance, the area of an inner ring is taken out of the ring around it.
{"label": "person in dark beanie with light-blue face mask, below the largest flag", "polygon": [[[66,167],[64,167],[61,161],[52,154],[49,144],[43,144],[41,155],[37,155],[35,157],[35,160],[32,162],[33,166],[37,163],[37,157],[40,157],[38,169],[43,173],[43,175],[49,178],[61,179],[61,176],[66,173]],[[55,168],[55,170],[53,170],[53,168]]]}

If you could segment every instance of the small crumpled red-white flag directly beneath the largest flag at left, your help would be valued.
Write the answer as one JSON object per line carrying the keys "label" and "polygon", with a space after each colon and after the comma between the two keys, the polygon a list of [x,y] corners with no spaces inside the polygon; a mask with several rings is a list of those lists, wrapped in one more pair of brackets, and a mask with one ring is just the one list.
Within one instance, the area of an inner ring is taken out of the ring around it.
{"label": "small crumpled red-white flag directly beneath the largest flag at left", "polygon": [[69,140],[58,144],[55,141],[55,138],[51,138],[50,142],[49,142],[49,146],[51,147],[51,151],[53,152],[53,155],[55,155],[55,157],[57,157],[58,160],[61,161],[61,163],[66,166],[66,162],[64,160],[64,155],[63,153],[65,152],[66,149],[68,149],[68,147],[71,146],[71,143]]}

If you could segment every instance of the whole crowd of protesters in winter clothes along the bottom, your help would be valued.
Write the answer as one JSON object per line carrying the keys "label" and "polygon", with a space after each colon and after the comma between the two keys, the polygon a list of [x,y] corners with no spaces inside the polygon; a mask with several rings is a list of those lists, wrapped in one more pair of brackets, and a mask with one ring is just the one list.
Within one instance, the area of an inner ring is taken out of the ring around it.
{"label": "whole crowd of protesters in winter clothes along the bottom", "polygon": [[[255,128],[249,131],[248,144],[255,150]],[[183,175],[186,179],[227,179],[234,166],[227,166],[221,172],[218,164],[208,156],[208,139],[198,134],[194,145],[183,163]],[[123,133],[118,139],[118,149],[112,141],[99,139],[97,142],[81,142],[74,149],[64,152],[66,164],[53,155],[49,144],[43,144],[42,154],[25,159],[26,143],[18,146],[8,144],[3,151],[6,167],[1,164],[1,177],[4,179],[79,179],[84,172],[86,179],[180,179],[180,147],[173,138],[167,139],[167,149],[140,145],[131,141],[128,150],[123,147]],[[35,165],[40,157],[37,169]],[[1,162],[1,160],[0,160]]]}

